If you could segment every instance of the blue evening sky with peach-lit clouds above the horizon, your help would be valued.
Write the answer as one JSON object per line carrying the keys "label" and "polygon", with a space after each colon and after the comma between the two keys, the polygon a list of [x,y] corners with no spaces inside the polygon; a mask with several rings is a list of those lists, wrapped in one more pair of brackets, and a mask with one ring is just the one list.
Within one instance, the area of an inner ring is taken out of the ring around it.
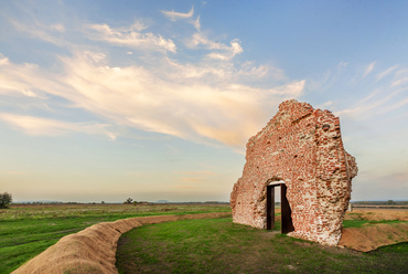
{"label": "blue evening sky with peach-lit clouds above the horizon", "polygon": [[329,109],[352,200],[408,199],[407,1],[0,0],[0,192],[228,201],[286,99]]}

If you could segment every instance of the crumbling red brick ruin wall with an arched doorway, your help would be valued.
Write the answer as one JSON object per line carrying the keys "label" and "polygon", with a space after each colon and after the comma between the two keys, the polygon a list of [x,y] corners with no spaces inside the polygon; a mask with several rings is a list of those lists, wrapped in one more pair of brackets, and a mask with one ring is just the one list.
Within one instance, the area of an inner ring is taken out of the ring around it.
{"label": "crumbling red brick ruin wall with an arched doorway", "polygon": [[243,177],[230,194],[233,220],[265,229],[267,186],[283,180],[294,226],[289,235],[336,245],[356,175],[339,118],[307,103],[286,101],[248,140]]}

